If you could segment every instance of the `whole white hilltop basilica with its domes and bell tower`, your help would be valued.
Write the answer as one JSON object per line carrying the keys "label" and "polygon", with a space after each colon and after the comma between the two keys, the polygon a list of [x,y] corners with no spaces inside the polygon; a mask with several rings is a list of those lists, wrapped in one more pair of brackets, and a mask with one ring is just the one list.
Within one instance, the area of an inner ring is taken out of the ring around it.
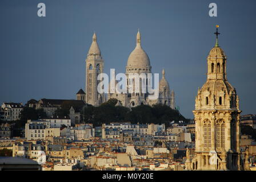
{"label": "whole white hilltop basilica with its domes and bell tower", "polygon": [[[125,75],[127,77],[127,87],[129,87],[130,84],[134,84],[134,80],[129,78],[130,73],[151,73],[150,59],[147,53],[142,49],[141,33],[139,31],[136,38],[136,46],[128,57],[125,69]],[[103,68],[104,61],[102,58],[101,50],[99,49],[97,43],[97,36],[94,32],[93,42],[91,43],[91,47],[87,53],[86,58],[86,92],[83,92],[83,90],[80,89],[77,93],[77,100],[83,100],[87,104],[93,106],[99,106],[110,98],[116,98],[118,100],[117,105],[125,107],[135,107],[138,105],[152,106],[155,104],[163,104],[171,107],[172,109],[175,109],[174,91],[170,90],[169,83],[165,78],[164,69],[162,70],[162,78],[159,81],[158,97],[155,99],[151,99],[149,97],[149,92],[142,92],[142,80],[140,80],[139,82],[138,93],[98,93],[97,86],[99,84],[99,81],[97,80],[97,77],[100,73],[103,73]],[[117,81],[115,81],[115,84],[117,84]],[[147,84],[148,83],[146,80],[146,85]]]}

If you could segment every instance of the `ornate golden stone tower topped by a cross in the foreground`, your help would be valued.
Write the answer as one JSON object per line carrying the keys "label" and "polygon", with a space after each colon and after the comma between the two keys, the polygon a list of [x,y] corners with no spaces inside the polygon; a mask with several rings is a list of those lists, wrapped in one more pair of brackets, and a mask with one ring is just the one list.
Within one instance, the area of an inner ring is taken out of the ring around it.
{"label": "ornate golden stone tower topped by a cross in the foreground", "polygon": [[207,57],[207,80],[195,98],[195,156],[192,170],[239,170],[239,98],[227,81],[227,58],[216,44]]}

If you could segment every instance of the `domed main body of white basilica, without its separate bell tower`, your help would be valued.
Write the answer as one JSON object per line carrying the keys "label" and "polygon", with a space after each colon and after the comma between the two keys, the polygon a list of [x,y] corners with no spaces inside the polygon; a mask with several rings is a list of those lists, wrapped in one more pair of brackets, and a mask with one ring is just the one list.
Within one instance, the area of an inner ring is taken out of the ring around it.
{"label": "domed main body of white basilica, without its separate bell tower", "polygon": [[[162,70],[162,79],[159,81],[159,95],[157,98],[150,98],[150,92],[147,88],[150,80],[145,77],[139,78],[139,92],[136,93],[135,88],[135,79],[134,75],[138,74],[151,74],[151,65],[150,59],[147,53],[142,49],[141,46],[141,33],[138,31],[137,33],[137,43],[134,50],[130,53],[127,65],[126,65],[126,82],[127,82],[127,93],[112,93],[109,92],[107,95],[107,99],[116,98],[120,102],[122,106],[125,107],[135,107],[138,105],[155,105],[155,104],[163,104],[170,106],[172,109],[175,109],[175,100],[174,100],[174,91],[170,90],[169,83],[165,79],[165,70]],[[143,90],[143,86],[146,85]],[[115,86],[117,86],[117,82],[115,82]],[[130,90],[133,92],[130,93]],[[111,91],[111,90],[110,90]],[[146,91],[146,92],[145,92]]]}

